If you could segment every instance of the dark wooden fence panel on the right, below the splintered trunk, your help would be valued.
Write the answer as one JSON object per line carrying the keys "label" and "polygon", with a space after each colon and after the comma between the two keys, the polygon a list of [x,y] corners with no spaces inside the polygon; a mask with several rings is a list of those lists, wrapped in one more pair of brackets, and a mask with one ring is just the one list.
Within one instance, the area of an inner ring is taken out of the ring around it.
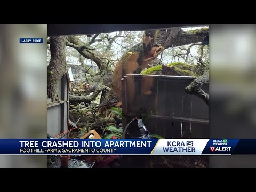
{"label": "dark wooden fence panel on the right, below the splintered trunk", "polygon": [[[123,115],[141,117],[151,134],[164,138],[209,138],[209,107],[185,91],[193,79],[127,74],[122,91],[122,106],[127,109]],[[203,90],[208,92],[208,85]]]}

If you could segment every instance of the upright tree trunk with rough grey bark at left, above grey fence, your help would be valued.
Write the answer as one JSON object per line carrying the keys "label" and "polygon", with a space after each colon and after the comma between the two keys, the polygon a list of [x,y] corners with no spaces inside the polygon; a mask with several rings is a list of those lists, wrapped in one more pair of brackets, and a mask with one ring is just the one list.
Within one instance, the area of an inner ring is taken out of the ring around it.
{"label": "upright tree trunk with rough grey bark at left, above grey fence", "polygon": [[48,66],[47,94],[52,102],[59,101],[57,87],[66,72],[65,37],[50,37],[51,60]]}

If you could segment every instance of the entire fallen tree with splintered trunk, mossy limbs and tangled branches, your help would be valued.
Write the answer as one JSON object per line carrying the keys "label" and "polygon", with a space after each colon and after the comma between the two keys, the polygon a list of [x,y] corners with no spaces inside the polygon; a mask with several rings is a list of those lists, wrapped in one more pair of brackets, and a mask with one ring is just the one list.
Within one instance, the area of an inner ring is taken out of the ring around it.
{"label": "entire fallen tree with splintered trunk, mossy limbs and tangled branches", "polygon": [[[118,35],[120,34],[121,33]],[[92,43],[102,40],[97,38],[97,34],[91,38],[88,43],[82,42],[81,39],[76,36],[70,36],[67,39],[63,38],[63,41],[67,46],[76,49],[82,55],[81,57],[94,61],[99,68],[98,73],[95,73],[90,68],[86,68],[83,59],[81,59],[81,61],[79,60],[81,65],[85,68],[84,73],[87,73],[88,76],[86,76],[86,82],[79,84],[79,86],[75,88],[73,87],[76,91],[71,92],[70,94],[70,119],[74,122],[79,119],[77,126],[86,127],[86,130],[97,129],[99,127],[102,131],[102,135],[105,134],[105,128],[107,126],[113,125],[115,122],[120,123],[121,118],[116,118],[116,114],[113,113],[113,111],[110,111],[112,108],[108,108],[112,106],[121,106],[121,78],[127,73],[201,76],[205,66],[202,57],[201,60],[198,61],[198,65],[188,65],[185,63],[161,65],[162,60],[159,60],[156,57],[161,54],[164,49],[170,47],[182,46],[190,43],[201,45],[201,42],[202,44],[207,42],[207,34],[207,28],[190,31],[183,31],[181,29],[145,31],[145,34],[141,39],[142,42],[133,46],[123,54],[117,64],[114,65],[115,70],[111,67],[113,65],[113,63],[111,63],[113,60],[111,61],[106,56],[106,51],[101,53],[91,46]],[[112,39],[110,39],[108,35],[104,37],[101,36],[101,38],[108,38],[111,41],[110,43],[113,43],[117,36]],[[109,46],[107,49],[109,49]],[[181,49],[187,48],[181,47]],[[185,62],[189,53],[188,49],[187,54],[185,55]],[[59,54],[63,54],[63,52],[60,52]],[[54,57],[52,60],[54,61]],[[66,65],[65,63],[62,64]],[[145,70],[145,68],[147,68],[147,70]],[[202,80],[200,79],[201,77],[197,78],[197,81],[195,80],[194,84],[192,83],[191,86],[188,86],[186,89],[189,93],[198,95],[198,97],[205,99],[207,102],[208,95],[204,94],[201,89],[202,83],[207,83],[206,76]],[[81,92],[79,90],[83,91]],[[98,105],[99,97],[100,104]],[[96,98],[97,102],[94,102]],[[101,113],[102,110],[104,113]],[[116,119],[119,120],[117,121]],[[117,123],[115,124],[117,125]]]}

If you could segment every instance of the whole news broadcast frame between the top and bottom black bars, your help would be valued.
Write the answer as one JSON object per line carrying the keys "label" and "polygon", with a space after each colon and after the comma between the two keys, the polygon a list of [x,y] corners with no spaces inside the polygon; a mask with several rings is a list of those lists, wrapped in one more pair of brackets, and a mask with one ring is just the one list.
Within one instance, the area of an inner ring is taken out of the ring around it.
{"label": "whole news broadcast frame between the top and bottom black bars", "polygon": [[256,25],[0,26],[0,167],[256,167]]}

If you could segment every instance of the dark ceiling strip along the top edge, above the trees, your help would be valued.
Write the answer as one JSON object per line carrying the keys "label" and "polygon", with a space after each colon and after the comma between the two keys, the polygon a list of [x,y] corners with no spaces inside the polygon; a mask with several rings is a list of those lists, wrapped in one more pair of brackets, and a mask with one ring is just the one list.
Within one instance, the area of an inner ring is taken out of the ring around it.
{"label": "dark ceiling strip along the top edge, above the trees", "polygon": [[48,36],[90,35],[113,31],[139,31],[205,25],[206,24],[48,24]]}

